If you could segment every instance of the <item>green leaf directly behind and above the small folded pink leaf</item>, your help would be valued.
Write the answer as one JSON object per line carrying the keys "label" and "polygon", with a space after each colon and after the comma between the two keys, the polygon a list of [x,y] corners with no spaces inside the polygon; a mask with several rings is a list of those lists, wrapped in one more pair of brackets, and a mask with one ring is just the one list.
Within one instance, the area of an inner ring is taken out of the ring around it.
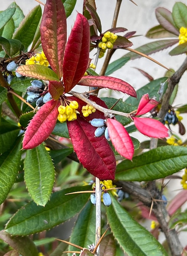
{"label": "green leaf directly behind and above the small folded pink leaf", "polygon": [[135,107],[138,107],[142,95],[146,94],[147,92],[149,92],[150,98],[155,96],[156,100],[159,100],[160,94],[158,94],[158,90],[160,88],[160,85],[164,83],[167,79],[167,77],[161,77],[151,81],[150,83],[147,83],[147,85],[144,85],[142,88],[136,91],[138,101],[136,98],[129,97],[125,102]]}

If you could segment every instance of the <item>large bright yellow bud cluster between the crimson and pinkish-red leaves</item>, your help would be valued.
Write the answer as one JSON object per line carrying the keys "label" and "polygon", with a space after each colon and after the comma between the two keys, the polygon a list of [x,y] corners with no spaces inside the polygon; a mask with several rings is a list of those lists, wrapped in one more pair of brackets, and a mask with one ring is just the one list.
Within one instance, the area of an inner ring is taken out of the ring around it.
{"label": "large bright yellow bud cluster between the crimson and pinkish-red leaves", "polygon": [[78,112],[78,102],[77,101],[71,101],[69,105],[62,106],[60,105],[58,107],[58,121],[60,123],[63,123],[65,121],[73,121],[77,119]]}

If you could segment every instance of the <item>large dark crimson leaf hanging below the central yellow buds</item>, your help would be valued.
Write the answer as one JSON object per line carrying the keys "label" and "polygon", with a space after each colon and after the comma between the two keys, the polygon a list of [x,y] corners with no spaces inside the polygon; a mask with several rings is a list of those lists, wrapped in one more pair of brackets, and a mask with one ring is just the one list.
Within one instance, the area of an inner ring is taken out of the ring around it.
{"label": "large dark crimson leaf hanging below the central yellow buds", "polygon": [[95,137],[96,127],[82,117],[67,122],[69,136],[80,163],[100,180],[114,180],[116,159],[104,136]]}

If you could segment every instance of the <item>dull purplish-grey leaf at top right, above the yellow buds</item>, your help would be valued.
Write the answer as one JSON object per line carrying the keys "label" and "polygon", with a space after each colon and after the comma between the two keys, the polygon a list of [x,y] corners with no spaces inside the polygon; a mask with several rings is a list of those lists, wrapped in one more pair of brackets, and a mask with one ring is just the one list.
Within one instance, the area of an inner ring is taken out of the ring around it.
{"label": "dull purplish-grey leaf at top right, above the yellow buds", "polygon": [[179,31],[176,29],[172,13],[169,10],[164,7],[158,7],[155,14],[158,22],[165,30],[176,36],[179,35]]}

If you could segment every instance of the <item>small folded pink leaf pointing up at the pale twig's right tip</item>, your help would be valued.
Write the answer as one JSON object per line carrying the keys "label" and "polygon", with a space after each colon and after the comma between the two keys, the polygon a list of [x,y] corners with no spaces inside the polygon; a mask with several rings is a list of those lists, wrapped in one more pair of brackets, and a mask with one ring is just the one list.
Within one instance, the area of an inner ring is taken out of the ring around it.
{"label": "small folded pink leaf pointing up at the pale twig's right tip", "polygon": [[149,99],[149,94],[144,94],[140,99],[136,115],[144,115],[158,105],[158,101]]}

